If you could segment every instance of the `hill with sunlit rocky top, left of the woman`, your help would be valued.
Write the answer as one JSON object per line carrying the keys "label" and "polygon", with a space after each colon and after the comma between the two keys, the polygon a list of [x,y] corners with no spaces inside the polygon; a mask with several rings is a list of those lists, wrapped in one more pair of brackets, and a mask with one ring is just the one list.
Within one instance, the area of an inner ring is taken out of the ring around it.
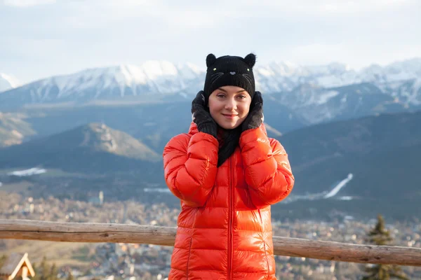
{"label": "hill with sunlit rocky top, left of the woman", "polygon": [[125,132],[95,123],[0,149],[0,169],[43,166],[78,172],[116,172],[147,167],[160,159],[160,155]]}

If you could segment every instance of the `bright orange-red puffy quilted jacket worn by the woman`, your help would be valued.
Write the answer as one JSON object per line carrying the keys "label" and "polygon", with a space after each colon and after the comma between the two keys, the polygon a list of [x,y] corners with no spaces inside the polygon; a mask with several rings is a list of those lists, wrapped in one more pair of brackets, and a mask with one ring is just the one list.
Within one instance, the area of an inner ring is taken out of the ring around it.
{"label": "bright orange-red puffy quilted jacket worn by the woman", "polygon": [[217,162],[218,140],[194,123],[164,148],[166,183],[181,200],[168,279],[276,279],[270,205],[294,184],[285,150],[261,125]]}

